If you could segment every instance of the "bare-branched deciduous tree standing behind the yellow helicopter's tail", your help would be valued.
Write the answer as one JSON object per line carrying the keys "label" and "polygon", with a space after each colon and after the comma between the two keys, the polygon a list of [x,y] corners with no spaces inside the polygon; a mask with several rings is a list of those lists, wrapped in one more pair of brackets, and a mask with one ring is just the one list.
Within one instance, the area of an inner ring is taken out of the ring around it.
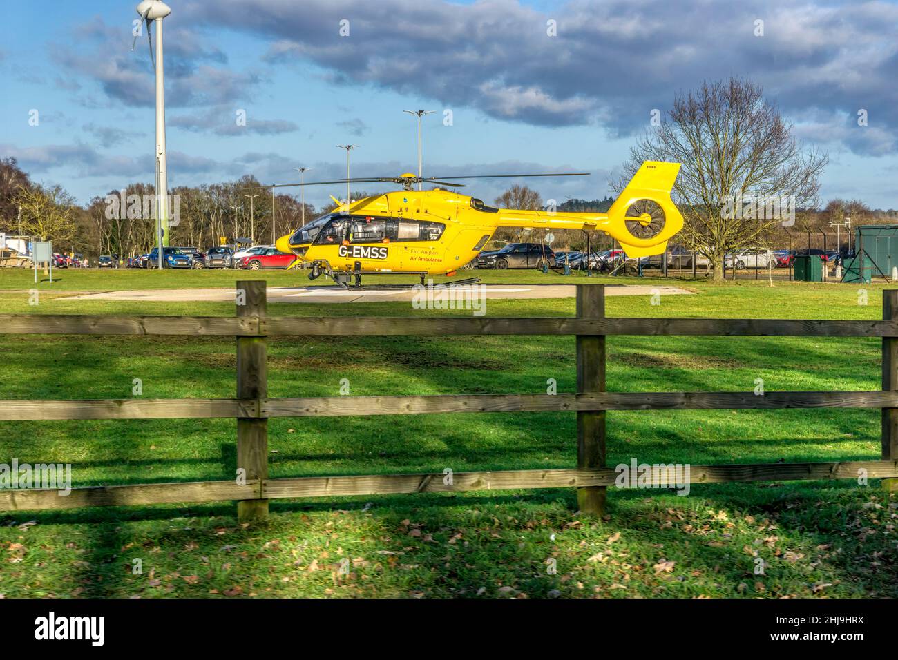
{"label": "bare-branched deciduous tree standing behind the yellow helicopter's tail", "polygon": [[685,221],[682,243],[707,257],[722,280],[727,251],[762,245],[784,221],[788,226],[772,208],[787,203],[794,216],[816,206],[828,158],[798,143],[761,85],[731,78],[674,99],[665,121],[630,150],[612,181],[618,193],[643,161],[682,163],[672,193]]}

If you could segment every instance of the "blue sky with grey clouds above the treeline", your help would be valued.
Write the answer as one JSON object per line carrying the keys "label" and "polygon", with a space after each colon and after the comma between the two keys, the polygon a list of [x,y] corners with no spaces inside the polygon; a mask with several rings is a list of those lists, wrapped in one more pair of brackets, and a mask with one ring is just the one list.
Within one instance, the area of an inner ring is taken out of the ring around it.
{"label": "blue sky with grey clouds above the treeline", "polygon": [[[545,199],[603,197],[652,110],[702,80],[744,75],[829,152],[823,202],[898,207],[894,2],[168,4],[170,186],[246,173],[285,183],[300,165],[313,168],[306,180],[340,178],[335,145],[347,142],[360,145],[353,175],[414,172],[415,120],[402,110],[420,108],[437,111],[424,122],[426,175],[593,172],[528,183]],[[145,36],[130,51],[135,5],[4,3],[0,157],[80,202],[154,178],[153,70]],[[491,200],[511,182],[465,192]],[[310,188],[306,199],[320,206],[341,190]]]}

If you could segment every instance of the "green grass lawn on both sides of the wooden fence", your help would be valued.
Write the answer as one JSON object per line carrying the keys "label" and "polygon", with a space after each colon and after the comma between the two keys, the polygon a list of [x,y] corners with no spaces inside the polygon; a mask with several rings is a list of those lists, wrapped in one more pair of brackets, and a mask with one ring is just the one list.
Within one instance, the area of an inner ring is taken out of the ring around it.
{"label": "green grass lawn on both sides of the wooden fence", "polygon": [[[83,301],[71,292],[231,287],[302,273],[58,271],[31,305],[31,271],[0,271],[0,312],[231,315],[233,304]],[[621,283],[537,272],[489,282]],[[24,277],[23,277],[24,276]],[[463,277],[463,276],[462,276]],[[607,299],[612,316],[881,318],[882,286],[674,284],[697,295]],[[407,303],[269,304],[272,315],[442,315]],[[573,315],[573,300],[489,301],[490,316]],[[230,397],[233,339],[0,335],[0,399]],[[612,391],[870,390],[876,339],[608,339]],[[272,338],[272,397],[575,391],[573,338]],[[608,462],[871,460],[877,410],[608,413]],[[0,462],[70,462],[76,486],[233,476],[233,420],[0,422]],[[573,413],[277,418],[272,477],[576,465]],[[340,497],[272,503],[238,524],[232,503],[0,515],[0,594],[14,596],[864,597],[898,595],[895,497],[878,482],[612,490],[578,517],[573,490]],[[32,524],[34,523],[34,524]],[[140,559],[143,572],[132,572]],[[757,560],[764,562],[756,575]]]}

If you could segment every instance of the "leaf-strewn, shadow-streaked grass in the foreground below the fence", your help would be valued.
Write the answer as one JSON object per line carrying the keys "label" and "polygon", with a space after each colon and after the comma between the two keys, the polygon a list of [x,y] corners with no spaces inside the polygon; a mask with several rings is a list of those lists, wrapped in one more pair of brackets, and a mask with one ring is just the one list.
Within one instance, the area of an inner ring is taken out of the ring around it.
{"label": "leaf-strewn, shadow-streaked grass in the foreground below the fence", "polygon": [[88,535],[72,584],[92,597],[894,597],[885,521],[865,506],[876,500],[807,482],[612,491],[605,521],[577,515],[573,489],[280,501],[245,527],[233,504],[29,517]]}

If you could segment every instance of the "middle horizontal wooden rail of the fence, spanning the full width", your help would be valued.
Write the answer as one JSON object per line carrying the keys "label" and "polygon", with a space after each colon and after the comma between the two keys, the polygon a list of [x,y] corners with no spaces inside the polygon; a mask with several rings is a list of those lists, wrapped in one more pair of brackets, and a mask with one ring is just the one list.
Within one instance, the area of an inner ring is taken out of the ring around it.
{"label": "middle horizontal wooden rail of the fence, spanning the full width", "polygon": [[0,420],[351,417],[450,412],[898,408],[898,392],[594,392],[286,399],[0,400]]}

